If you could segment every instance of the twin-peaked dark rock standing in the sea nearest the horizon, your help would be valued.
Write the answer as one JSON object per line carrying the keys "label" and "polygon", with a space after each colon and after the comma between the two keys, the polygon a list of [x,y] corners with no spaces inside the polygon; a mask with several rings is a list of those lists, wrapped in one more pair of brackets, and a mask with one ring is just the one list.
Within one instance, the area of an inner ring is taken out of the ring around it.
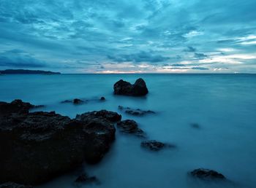
{"label": "twin-peaked dark rock standing in the sea nearest the horizon", "polygon": [[148,94],[148,88],[146,87],[146,82],[141,78],[137,79],[133,85],[129,82],[126,82],[126,81],[120,79],[114,85],[114,94],[115,95],[143,96],[143,95]]}

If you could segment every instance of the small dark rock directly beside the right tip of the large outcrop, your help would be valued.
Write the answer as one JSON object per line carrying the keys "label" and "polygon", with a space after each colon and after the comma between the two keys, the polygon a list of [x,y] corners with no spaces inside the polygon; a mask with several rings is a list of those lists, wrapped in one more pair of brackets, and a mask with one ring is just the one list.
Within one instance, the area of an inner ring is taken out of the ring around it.
{"label": "small dark rock directly beside the right tip of the large outcrop", "polygon": [[123,133],[129,133],[136,136],[145,137],[144,131],[138,128],[138,123],[134,120],[124,120],[121,122],[117,122],[117,128],[119,128]]}

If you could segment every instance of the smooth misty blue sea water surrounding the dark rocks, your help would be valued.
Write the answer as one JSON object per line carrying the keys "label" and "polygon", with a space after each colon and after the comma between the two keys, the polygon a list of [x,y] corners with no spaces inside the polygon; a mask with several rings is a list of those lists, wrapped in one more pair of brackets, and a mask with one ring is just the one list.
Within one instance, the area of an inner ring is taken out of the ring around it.
{"label": "smooth misty blue sea water surrounding the dark rocks", "polygon": [[[113,95],[118,79],[145,79],[149,93],[134,98]],[[60,74],[4,75],[0,101],[20,98],[75,117],[86,111],[117,111],[122,120],[138,122],[149,139],[175,144],[175,149],[149,152],[141,138],[116,131],[116,141],[97,165],[84,164],[40,188],[76,187],[83,172],[97,176],[104,188],[256,187],[256,75],[254,74]],[[98,101],[101,96],[106,101]],[[81,105],[61,101],[81,98]],[[156,111],[133,117],[118,106]],[[199,128],[192,125],[197,124]],[[192,179],[188,172],[209,168],[227,182]]]}

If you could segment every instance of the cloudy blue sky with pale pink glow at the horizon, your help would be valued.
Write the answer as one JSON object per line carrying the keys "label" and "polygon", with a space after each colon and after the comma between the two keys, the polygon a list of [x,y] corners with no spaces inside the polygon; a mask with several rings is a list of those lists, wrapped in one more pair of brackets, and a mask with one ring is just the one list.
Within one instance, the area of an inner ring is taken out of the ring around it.
{"label": "cloudy blue sky with pale pink glow at the horizon", "polygon": [[0,0],[0,70],[256,73],[255,0]]}

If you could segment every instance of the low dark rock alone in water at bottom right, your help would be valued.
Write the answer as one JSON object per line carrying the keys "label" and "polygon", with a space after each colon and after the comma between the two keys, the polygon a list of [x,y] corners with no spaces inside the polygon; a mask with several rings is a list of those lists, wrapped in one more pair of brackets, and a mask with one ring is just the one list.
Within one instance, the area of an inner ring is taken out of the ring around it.
{"label": "low dark rock alone in water at bottom right", "polygon": [[225,176],[223,176],[221,173],[218,173],[217,171],[212,171],[204,168],[198,168],[192,172],[190,172],[192,176],[198,179],[204,179],[204,180],[224,180],[226,179]]}

